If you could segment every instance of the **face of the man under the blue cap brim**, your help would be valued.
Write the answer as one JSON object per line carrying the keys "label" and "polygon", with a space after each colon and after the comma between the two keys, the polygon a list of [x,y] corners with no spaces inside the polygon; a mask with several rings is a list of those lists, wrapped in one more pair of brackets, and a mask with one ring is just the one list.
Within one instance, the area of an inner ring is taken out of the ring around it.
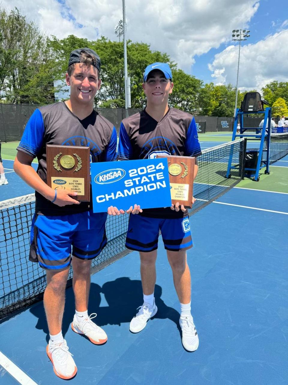
{"label": "face of the man under the blue cap brim", "polygon": [[165,78],[163,72],[155,70],[148,75],[142,87],[148,104],[166,105],[169,94],[172,94],[173,83]]}

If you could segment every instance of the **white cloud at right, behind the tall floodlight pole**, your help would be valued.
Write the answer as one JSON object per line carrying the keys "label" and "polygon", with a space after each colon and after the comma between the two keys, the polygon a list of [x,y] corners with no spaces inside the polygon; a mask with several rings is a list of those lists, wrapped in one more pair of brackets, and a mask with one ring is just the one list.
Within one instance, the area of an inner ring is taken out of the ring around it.
{"label": "white cloud at right, behind the tall floodlight pole", "polygon": [[[245,44],[240,51],[238,86],[242,90],[257,89],[277,79],[288,81],[288,52],[286,47],[288,29],[268,36],[256,44]],[[209,64],[215,83],[236,84],[238,45],[230,45],[215,55]]]}

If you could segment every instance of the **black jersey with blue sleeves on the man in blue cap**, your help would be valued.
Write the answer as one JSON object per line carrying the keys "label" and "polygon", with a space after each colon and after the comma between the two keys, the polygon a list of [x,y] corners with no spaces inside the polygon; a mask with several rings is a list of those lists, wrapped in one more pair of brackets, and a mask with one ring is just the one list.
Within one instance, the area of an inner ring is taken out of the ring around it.
{"label": "black jersey with blue sleeves on the man in blue cap", "polygon": [[[159,155],[199,156],[201,149],[195,119],[187,112],[170,108],[157,122],[146,110],[124,119],[120,126],[118,159],[145,159]],[[181,218],[187,210],[170,208],[143,210],[143,216]]]}

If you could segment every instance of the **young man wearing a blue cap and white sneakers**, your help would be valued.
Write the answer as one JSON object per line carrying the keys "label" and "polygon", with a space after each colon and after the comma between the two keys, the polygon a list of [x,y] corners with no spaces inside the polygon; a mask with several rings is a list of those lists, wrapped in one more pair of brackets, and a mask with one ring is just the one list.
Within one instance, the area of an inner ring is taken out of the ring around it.
{"label": "young man wearing a blue cap and white sneakers", "polygon": [[[154,158],[157,154],[195,157],[201,154],[194,117],[168,105],[173,85],[168,64],[153,63],[146,67],[143,89],[147,105],[140,113],[122,121],[119,160]],[[197,170],[196,162],[194,177]],[[192,247],[192,238],[187,222],[188,212],[179,203],[170,208],[143,209],[137,216],[130,216],[126,247],[140,253],[144,298],[143,305],[131,320],[130,331],[143,330],[147,321],[157,313],[155,263],[161,230],[180,301],[182,343],[186,350],[193,352],[198,348],[199,339],[191,315],[191,280],[186,250]]]}

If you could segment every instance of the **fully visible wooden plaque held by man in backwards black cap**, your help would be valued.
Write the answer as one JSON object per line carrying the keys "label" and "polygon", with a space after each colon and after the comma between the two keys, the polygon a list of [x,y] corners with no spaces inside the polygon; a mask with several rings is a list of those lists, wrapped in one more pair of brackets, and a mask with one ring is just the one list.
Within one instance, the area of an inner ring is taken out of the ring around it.
{"label": "fully visible wooden plaque held by man in backwards black cap", "polygon": [[46,144],[47,184],[77,192],[77,201],[90,201],[90,147]]}

